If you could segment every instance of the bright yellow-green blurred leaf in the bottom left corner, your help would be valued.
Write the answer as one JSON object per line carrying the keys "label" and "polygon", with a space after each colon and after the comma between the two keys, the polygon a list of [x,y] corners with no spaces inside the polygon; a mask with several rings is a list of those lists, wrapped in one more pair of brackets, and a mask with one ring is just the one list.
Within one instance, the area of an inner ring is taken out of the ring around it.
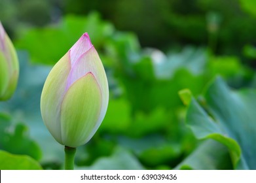
{"label": "bright yellow-green blurred leaf in the bottom left corner", "polygon": [[41,165],[25,155],[14,155],[0,150],[1,170],[41,170]]}

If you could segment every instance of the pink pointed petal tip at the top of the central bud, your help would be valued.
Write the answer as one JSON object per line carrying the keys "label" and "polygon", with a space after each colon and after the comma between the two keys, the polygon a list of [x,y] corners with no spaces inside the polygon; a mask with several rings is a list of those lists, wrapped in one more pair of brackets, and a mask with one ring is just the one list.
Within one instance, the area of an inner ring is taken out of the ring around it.
{"label": "pink pointed petal tip at the top of the central bud", "polygon": [[70,61],[71,67],[75,64],[77,59],[81,57],[84,52],[87,52],[92,47],[92,42],[88,33],[84,33],[82,37],[75,42],[75,44],[70,48]]}

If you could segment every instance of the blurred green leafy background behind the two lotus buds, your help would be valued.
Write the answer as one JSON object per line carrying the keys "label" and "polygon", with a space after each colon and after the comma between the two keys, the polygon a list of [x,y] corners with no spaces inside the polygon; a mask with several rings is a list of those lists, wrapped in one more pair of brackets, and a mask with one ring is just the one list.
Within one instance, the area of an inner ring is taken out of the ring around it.
{"label": "blurred green leafy background behind the two lotus buds", "polygon": [[9,165],[1,169],[63,169],[64,147],[41,119],[41,90],[84,32],[105,67],[110,100],[75,169],[256,169],[254,7],[253,0],[0,0],[20,61],[16,93],[0,103],[0,161]]}

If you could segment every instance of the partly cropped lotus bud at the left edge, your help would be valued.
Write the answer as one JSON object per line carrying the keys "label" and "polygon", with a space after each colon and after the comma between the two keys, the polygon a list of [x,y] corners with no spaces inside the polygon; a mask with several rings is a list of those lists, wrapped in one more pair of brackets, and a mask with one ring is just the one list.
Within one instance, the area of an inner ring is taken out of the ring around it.
{"label": "partly cropped lotus bud at the left edge", "polygon": [[0,22],[0,101],[12,97],[17,86],[18,74],[18,56]]}

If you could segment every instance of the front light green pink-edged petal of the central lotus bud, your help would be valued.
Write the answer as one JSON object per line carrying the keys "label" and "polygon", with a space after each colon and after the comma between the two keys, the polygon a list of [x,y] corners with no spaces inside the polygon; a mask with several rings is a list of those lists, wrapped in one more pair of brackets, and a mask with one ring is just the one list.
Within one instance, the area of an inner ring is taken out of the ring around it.
{"label": "front light green pink-edged petal of the central lotus bud", "polygon": [[88,73],[67,91],[62,103],[62,142],[65,146],[85,144],[98,129],[101,111],[101,91],[96,78]]}

